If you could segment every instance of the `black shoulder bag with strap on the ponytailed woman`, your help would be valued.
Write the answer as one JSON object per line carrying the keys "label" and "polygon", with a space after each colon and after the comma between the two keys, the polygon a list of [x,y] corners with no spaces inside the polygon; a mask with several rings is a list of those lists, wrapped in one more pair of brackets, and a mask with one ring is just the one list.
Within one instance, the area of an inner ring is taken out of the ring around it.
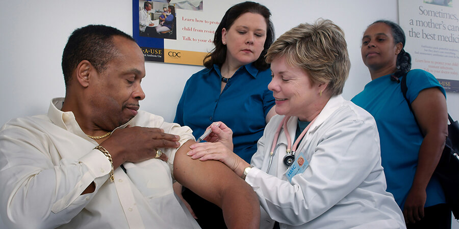
{"label": "black shoulder bag with strap on the ponytailed woman", "polygon": [[[415,118],[416,124],[419,126],[410,100],[406,98],[406,73],[401,79],[400,88],[405,97],[408,106]],[[448,113],[450,124],[448,125],[448,137],[446,138],[445,148],[438,162],[437,168],[433,172],[438,177],[443,191],[445,192],[446,204],[451,209],[454,218],[459,219],[459,124],[454,121]],[[422,134],[422,131],[421,131]]]}

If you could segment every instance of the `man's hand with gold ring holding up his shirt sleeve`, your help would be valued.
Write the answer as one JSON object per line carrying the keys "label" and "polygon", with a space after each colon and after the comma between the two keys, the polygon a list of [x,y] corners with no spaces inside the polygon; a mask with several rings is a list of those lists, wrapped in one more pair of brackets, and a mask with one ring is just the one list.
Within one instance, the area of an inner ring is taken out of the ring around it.
{"label": "man's hand with gold ring holding up his shirt sleeve", "polygon": [[[159,148],[178,148],[180,137],[159,128],[130,127],[116,130],[100,145],[112,155],[113,167],[125,161],[138,162],[155,158]],[[167,160],[165,154],[159,158]]]}

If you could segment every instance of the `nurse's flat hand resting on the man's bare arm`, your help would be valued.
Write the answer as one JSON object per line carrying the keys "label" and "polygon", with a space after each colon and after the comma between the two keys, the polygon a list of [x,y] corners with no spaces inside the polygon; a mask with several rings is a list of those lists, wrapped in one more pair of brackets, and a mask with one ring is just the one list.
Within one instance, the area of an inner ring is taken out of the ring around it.
{"label": "nurse's flat hand resting on the man's bare arm", "polygon": [[191,150],[188,151],[187,155],[191,156],[192,159],[221,161],[239,176],[242,175],[245,167],[250,166],[222,142],[200,142],[191,145],[190,148]]}

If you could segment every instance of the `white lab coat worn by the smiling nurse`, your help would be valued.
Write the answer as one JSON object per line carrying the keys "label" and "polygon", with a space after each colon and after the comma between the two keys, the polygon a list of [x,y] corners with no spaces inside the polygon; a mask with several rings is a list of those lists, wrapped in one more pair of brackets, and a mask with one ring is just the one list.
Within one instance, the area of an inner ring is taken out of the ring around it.
{"label": "white lab coat worn by the smiling nurse", "polygon": [[[332,97],[298,146],[310,164],[291,183],[285,176],[285,145],[277,149],[266,173],[283,118],[275,116],[266,126],[246,177],[271,219],[281,228],[405,228],[402,212],[386,192],[379,135],[367,111],[341,96]],[[292,142],[297,120],[288,122]],[[281,142],[287,144],[284,130],[277,144]],[[262,216],[262,227],[267,220]]]}

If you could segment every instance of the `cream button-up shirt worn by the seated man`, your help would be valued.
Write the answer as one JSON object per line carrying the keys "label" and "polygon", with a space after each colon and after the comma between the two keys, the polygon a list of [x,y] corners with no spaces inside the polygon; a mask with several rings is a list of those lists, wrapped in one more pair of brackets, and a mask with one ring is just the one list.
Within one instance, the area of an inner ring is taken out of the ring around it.
{"label": "cream button-up shirt worn by the seated man", "polygon": [[[115,169],[93,150],[72,112],[53,99],[48,115],[13,119],[0,129],[0,228],[199,228],[172,190],[176,149]],[[139,111],[131,126],[158,127],[194,139],[188,127]],[[91,182],[95,191],[81,195]]]}

